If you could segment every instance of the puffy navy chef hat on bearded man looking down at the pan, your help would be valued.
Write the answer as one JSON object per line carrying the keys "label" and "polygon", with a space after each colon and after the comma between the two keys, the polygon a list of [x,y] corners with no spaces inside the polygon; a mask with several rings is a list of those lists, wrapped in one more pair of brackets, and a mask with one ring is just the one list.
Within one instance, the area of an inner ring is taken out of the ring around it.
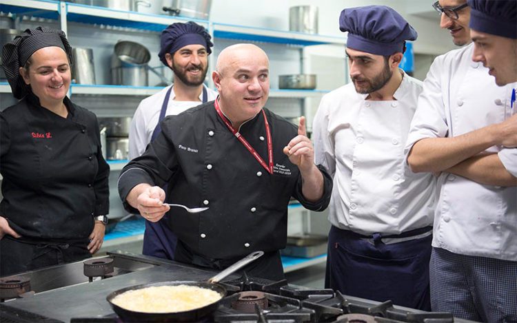
{"label": "puffy navy chef hat on bearded man looking down at the pan", "polygon": [[339,29],[348,32],[347,47],[389,56],[404,52],[405,41],[414,41],[416,30],[398,12],[387,6],[346,8]]}

